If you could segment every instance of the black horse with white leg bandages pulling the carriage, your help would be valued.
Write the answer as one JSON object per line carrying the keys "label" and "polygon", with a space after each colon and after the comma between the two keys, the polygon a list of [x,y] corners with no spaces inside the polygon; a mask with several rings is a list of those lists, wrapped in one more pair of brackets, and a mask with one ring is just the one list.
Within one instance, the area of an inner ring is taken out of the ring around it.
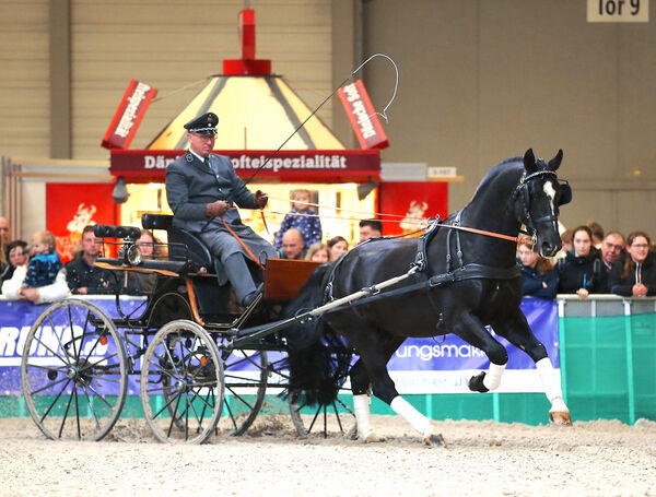
{"label": "black horse with white leg bandages pulling the carriage", "polygon": [[[487,330],[525,351],[535,362],[551,402],[552,421],[570,423],[562,400],[560,377],[544,346],[536,339],[519,309],[522,279],[516,264],[516,237],[524,224],[542,256],[561,247],[559,206],[571,201],[566,182],[555,174],[562,151],[548,163],[531,150],[524,157],[506,159],[483,178],[471,202],[417,239],[377,238],[345,253],[338,262],[317,269],[288,316],[316,308],[362,288],[408,272],[407,280],[379,295],[325,313],[320,319],[288,331],[292,398],[328,404],[348,370],[348,357],[317,355],[327,341],[340,336],[360,355],[350,368],[358,434],[364,441],[377,437],[368,419],[368,392],[388,403],[431,445],[436,438],[430,421],[397,392],[387,362],[409,336],[455,333],[483,351],[490,369],[472,377],[469,388],[495,389],[508,360],[506,350]],[[457,227],[462,229],[456,229]],[[505,236],[499,238],[465,230],[475,228]],[[320,353],[319,353],[320,354]],[[438,440],[438,439],[437,439]]]}

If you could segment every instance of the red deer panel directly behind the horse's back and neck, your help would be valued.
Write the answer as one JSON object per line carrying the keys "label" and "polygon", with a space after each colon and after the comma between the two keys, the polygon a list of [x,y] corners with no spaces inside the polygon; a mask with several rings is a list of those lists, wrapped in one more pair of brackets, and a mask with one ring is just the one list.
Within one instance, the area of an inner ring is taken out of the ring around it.
{"label": "red deer panel directly behind the horse's back and neck", "polygon": [[425,227],[429,217],[444,220],[448,214],[446,181],[384,181],[380,184],[380,212],[397,214],[385,223],[384,235],[400,235]]}

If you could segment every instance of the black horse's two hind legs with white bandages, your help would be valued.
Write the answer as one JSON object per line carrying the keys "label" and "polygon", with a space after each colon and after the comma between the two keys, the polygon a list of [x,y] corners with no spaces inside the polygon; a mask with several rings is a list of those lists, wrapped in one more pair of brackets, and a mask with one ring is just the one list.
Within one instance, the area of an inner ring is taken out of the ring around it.
{"label": "black horse's two hind legs with white bandages", "polygon": [[[360,331],[362,332],[362,330]],[[353,387],[353,403],[359,436],[364,441],[370,441],[371,437],[375,437],[375,440],[378,439],[373,434],[373,430],[371,430],[368,424],[368,395],[366,395],[366,390],[363,390],[363,378],[366,377],[371,381],[374,395],[387,403],[395,413],[410,423],[422,435],[425,445],[442,443],[445,446],[442,435],[433,434],[431,419],[417,411],[406,399],[399,395],[393,379],[387,372],[387,362],[403,340],[405,336],[382,338],[380,334],[375,332],[371,334],[363,333],[353,339],[349,338],[349,342],[355,346],[355,350],[360,354],[360,362],[364,366],[364,368],[359,369],[355,367],[358,366],[356,364],[351,370],[351,386]],[[365,374],[366,376],[364,376]],[[368,431],[368,435],[365,431]]]}

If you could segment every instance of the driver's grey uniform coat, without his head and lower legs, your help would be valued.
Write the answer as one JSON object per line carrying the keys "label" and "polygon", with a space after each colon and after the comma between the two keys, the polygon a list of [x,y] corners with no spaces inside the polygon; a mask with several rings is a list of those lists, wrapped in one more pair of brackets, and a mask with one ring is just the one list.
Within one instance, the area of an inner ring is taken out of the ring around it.
{"label": "driver's grey uniform coat, without his head and lower legs", "polygon": [[[208,166],[187,151],[166,168],[166,198],[174,213],[173,225],[198,234],[222,263],[236,252],[250,259],[221,218],[211,220],[206,214],[206,205],[216,200],[224,200],[231,206],[257,209],[253,193],[235,174],[229,157],[210,154]],[[223,220],[260,262],[277,257],[271,244],[242,224],[236,209],[229,210]],[[219,265],[216,270],[219,282],[225,283],[222,268]]]}

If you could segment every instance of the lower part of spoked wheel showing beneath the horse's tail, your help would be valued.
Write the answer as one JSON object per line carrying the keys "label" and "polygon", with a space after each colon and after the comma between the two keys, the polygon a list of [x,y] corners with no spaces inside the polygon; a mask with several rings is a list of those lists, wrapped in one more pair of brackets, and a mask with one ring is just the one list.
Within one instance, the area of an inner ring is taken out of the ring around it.
{"label": "lower part of spoked wheel showing beneath the horse's tail", "polygon": [[301,437],[311,435],[356,438],[355,414],[338,397],[332,405],[305,406],[290,398],[290,415]]}

